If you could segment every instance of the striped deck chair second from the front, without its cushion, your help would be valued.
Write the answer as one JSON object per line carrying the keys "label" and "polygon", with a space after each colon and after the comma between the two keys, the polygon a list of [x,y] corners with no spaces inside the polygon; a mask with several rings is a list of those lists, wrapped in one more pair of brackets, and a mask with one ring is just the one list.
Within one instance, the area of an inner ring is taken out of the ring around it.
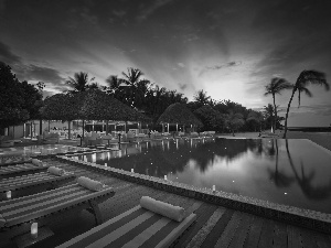
{"label": "striped deck chair second from the front, without its cushion", "polygon": [[[21,233],[26,231],[26,225],[21,224],[36,220],[42,226],[47,224],[49,217],[58,218],[61,214],[74,214],[81,209],[94,214],[95,222],[99,225],[103,218],[98,204],[114,194],[114,190],[106,185],[100,191],[92,191],[75,183],[34,195],[2,201],[0,202],[0,230],[6,231],[17,227]],[[24,227],[25,229],[22,229]]]}

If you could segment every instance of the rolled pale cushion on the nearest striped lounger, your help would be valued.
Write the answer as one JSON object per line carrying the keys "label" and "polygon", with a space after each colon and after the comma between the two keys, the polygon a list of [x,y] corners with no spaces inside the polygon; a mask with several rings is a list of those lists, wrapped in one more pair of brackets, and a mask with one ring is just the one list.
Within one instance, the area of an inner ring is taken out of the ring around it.
{"label": "rolled pale cushion on the nearest striped lounger", "polygon": [[153,200],[149,196],[142,196],[140,198],[140,206],[175,222],[181,222],[185,217],[184,208]]}

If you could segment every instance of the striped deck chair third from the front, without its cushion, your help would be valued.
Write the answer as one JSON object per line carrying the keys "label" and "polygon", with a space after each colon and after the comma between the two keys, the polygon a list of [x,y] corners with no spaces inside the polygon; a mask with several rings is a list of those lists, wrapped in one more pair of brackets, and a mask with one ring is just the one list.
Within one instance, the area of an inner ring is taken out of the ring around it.
{"label": "striped deck chair third from the front, without its cushion", "polygon": [[[0,181],[0,200],[7,200],[6,193],[12,192],[12,198],[41,192],[44,187],[55,188],[75,179],[73,173],[55,175],[50,172],[20,175]],[[34,190],[34,191],[33,191]]]}

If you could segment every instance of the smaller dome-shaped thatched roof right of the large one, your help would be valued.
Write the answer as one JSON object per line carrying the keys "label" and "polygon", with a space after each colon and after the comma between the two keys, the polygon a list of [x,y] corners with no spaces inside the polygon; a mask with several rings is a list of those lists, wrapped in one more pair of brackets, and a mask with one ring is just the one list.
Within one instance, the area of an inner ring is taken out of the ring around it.
{"label": "smaller dome-shaped thatched roof right of the large one", "polygon": [[160,116],[157,123],[180,123],[203,126],[202,122],[191,112],[191,110],[180,103],[170,105]]}

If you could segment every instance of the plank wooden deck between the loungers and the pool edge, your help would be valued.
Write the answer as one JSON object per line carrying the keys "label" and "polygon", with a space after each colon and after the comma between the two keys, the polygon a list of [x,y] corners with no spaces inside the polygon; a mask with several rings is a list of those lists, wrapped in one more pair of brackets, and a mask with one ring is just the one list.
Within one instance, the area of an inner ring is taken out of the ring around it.
{"label": "plank wooden deck between the loungers and the pool edge", "polygon": [[[51,160],[49,159],[49,161]],[[115,196],[99,205],[104,220],[138,205],[143,195],[184,208],[194,205],[197,220],[180,237],[174,247],[331,247],[330,235],[121,181],[82,166],[68,165],[54,160],[52,160],[52,164],[72,171],[77,176],[85,175],[102,181],[115,188]],[[85,211],[75,216],[56,219],[49,225],[54,231],[54,236],[33,247],[55,247],[87,231],[93,226],[94,218]],[[9,239],[9,233],[0,234],[0,247],[15,247]]]}

